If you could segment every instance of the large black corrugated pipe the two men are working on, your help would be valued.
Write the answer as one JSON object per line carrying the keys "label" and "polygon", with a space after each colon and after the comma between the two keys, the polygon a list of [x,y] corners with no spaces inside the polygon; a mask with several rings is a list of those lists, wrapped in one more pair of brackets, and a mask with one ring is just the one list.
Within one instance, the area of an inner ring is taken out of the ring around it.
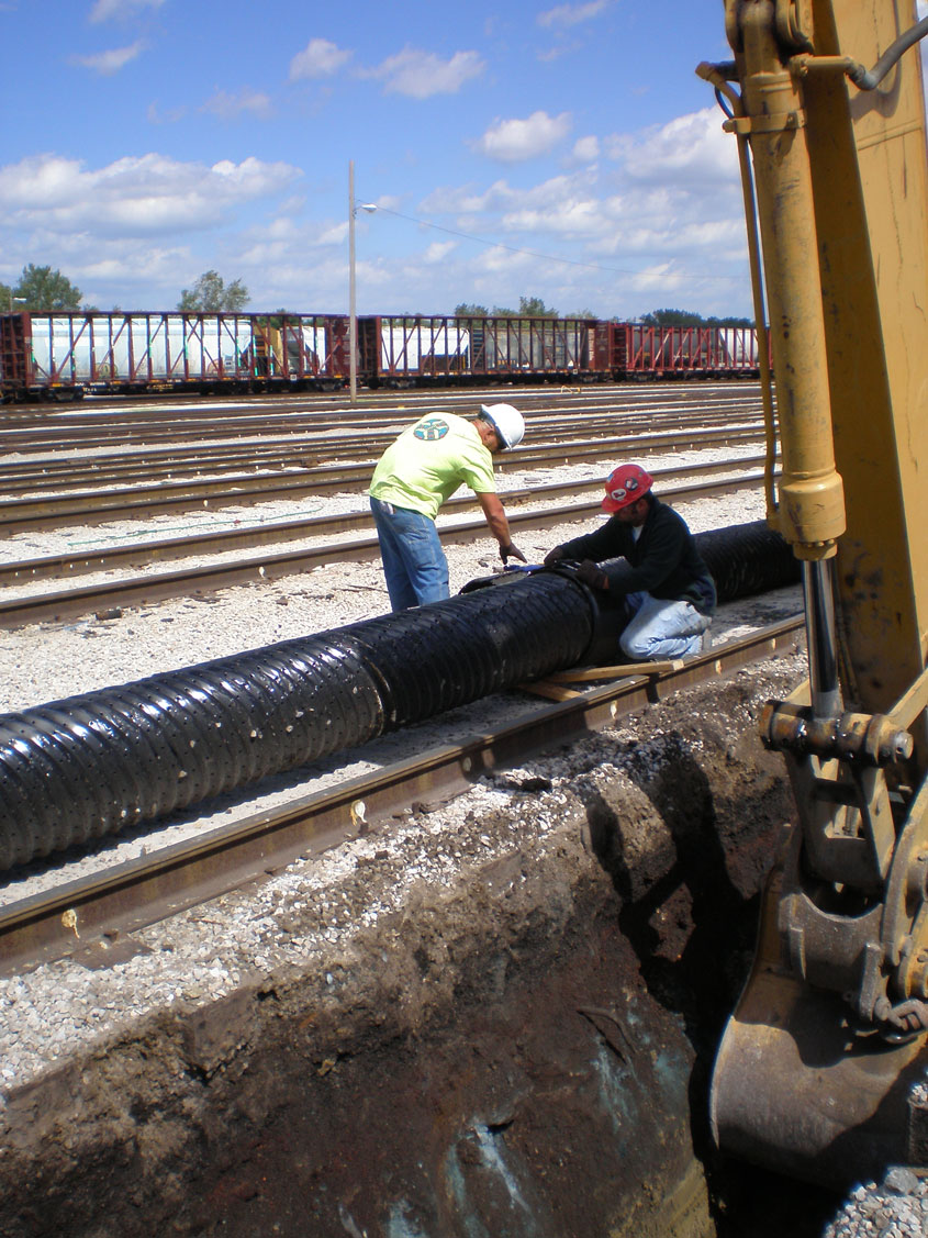
{"label": "large black corrugated pipe the two men are working on", "polygon": [[[762,521],[699,541],[720,600],[798,579]],[[512,583],[517,604],[511,588],[476,589],[0,717],[0,869],[565,670],[601,644],[598,602],[569,574]]]}

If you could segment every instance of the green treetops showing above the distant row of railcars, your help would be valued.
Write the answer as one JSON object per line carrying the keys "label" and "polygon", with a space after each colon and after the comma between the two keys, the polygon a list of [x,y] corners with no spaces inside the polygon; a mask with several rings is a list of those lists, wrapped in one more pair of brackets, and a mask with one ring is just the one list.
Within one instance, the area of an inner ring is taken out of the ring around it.
{"label": "green treetops showing above the distant row of railcars", "polygon": [[[177,310],[183,313],[240,313],[250,298],[249,290],[241,280],[233,280],[226,284],[218,271],[204,271],[203,275],[189,288],[182,288]],[[82,305],[83,293],[80,288],[71,282],[61,271],[52,270],[51,266],[36,266],[30,262],[22,267],[22,275],[15,285],[0,282],[0,313],[15,313],[27,310],[32,313],[75,313],[78,311],[93,312],[95,306]],[[114,312],[119,313],[119,307],[114,306]],[[277,313],[286,313],[278,310]],[[591,310],[578,310],[570,314],[559,314],[557,310],[544,305],[541,297],[520,297],[518,308],[510,310],[502,306],[474,305],[462,301],[454,307],[455,317],[462,318],[599,318]],[[421,316],[416,313],[403,313],[390,316],[391,322],[402,323],[407,319]],[[617,317],[614,322],[624,321]],[[652,310],[641,314],[636,322],[646,327],[752,327],[751,318],[736,317],[704,317],[689,310]]]}

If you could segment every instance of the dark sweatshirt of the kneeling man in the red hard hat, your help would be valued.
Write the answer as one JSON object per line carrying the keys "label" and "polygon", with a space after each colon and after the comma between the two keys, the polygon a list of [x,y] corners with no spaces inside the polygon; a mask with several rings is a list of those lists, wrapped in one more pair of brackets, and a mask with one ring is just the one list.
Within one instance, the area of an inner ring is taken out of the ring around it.
{"label": "dark sweatshirt of the kneeling man in the red hard hat", "polygon": [[700,614],[710,615],[715,610],[715,582],[685,520],[656,495],[650,500],[637,540],[632,525],[612,516],[595,532],[563,542],[564,558],[590,558],[601,565],[621,557],[622,562],[603,568],[612,597],[647,592],[668,602],[692,602]]}

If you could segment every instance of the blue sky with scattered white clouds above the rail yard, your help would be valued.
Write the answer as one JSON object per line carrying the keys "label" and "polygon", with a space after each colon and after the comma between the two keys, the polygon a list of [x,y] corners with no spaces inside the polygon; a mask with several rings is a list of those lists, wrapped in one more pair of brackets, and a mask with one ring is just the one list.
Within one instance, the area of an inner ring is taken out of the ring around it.
{"label": "blue sky with scattered white clouds above the rail yard", "polygon": [[[0,280],[100,310],[751,313],[721,0],[0,0]],[[474,239],[479,238],[479,239]]]}

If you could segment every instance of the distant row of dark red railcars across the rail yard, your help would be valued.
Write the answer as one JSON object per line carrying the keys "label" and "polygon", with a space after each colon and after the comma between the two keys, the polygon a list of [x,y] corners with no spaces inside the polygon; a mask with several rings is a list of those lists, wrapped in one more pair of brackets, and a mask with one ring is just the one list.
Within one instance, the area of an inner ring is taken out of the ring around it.
{"label": "distant row of dark red railcars across the rail yard", "polygon": [[[593,318],[358,319],[360,386],[570,383],[757,374],[746,327]],[[5,401],[145,391],[335,390],[349,383],[346,314],[0,314]]]}

